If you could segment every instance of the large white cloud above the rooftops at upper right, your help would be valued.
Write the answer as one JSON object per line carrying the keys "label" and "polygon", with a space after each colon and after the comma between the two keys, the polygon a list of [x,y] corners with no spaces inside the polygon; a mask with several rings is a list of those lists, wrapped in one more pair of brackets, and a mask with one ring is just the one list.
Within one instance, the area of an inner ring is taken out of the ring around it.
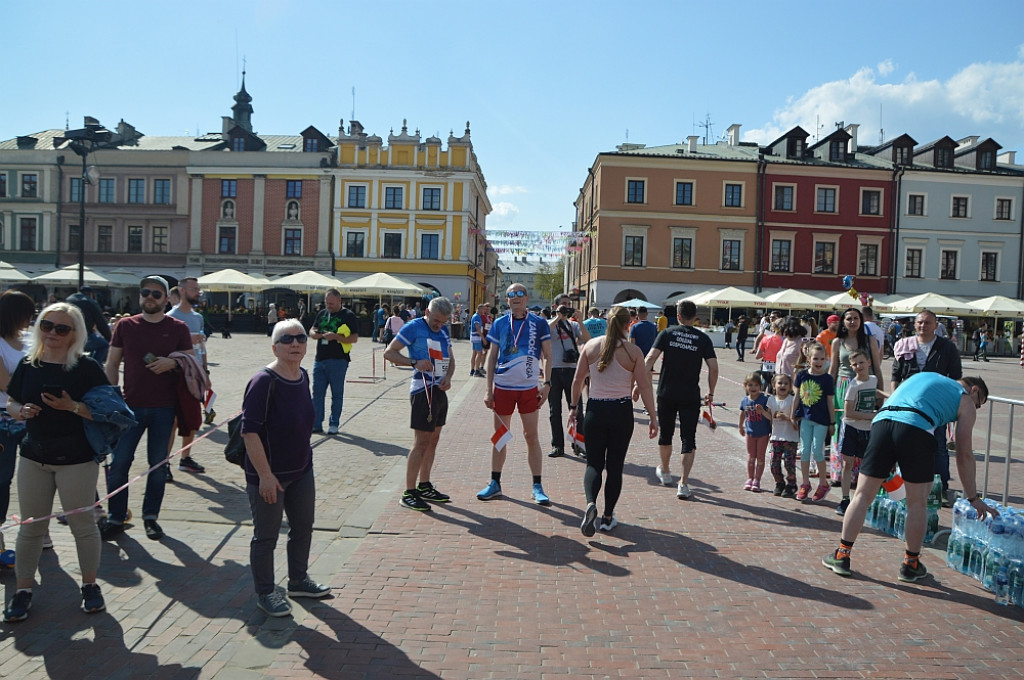
{"label": "large white cloud above the rooftops at upper right", "polygon": [[895,67],[887,59],[878,72],[865,67],[846,80],[822,83],[791,97],[770,122],[743,137],[768,143],[800,125],[814,140],[843,121],[860,124],[861,144],[877,143],[880,128],[886,139],[906,132],[920,143],[945,134],[954,139],[990,136],[1005,146],[1021,138],[1024,61],[972,63],[945,82],[919,81],[912,73],[901,82],[881,82],[879,74],[891,69]]}

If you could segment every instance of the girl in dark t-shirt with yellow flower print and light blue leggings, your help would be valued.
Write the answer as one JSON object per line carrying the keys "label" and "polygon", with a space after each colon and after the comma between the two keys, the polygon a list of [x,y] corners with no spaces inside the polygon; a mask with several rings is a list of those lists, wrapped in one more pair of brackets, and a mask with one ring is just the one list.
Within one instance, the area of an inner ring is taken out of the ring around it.
{"label": "girl in dark t-shirt with yellow flower print and light blue leggings", "polygon": [[800,452],[800,472],[804,483],[797,492],[797,500],[806,501],[811,491],[810,459],[813,457],[818,467],[818,488],[814,492],[813,498],[813,501],[817,502],[831,488],[828,484],[828,469],[825,467],[825,437],[830,438],[836,429],[836,423],[833,421],[836,383],[833,377],[825,373],[828,352],[821,343],[809,343],[806,354],[810,368],[801,371],[794,381],[796,396],[791,414],[793,424],[799,423],[800,441],[803,444]]}

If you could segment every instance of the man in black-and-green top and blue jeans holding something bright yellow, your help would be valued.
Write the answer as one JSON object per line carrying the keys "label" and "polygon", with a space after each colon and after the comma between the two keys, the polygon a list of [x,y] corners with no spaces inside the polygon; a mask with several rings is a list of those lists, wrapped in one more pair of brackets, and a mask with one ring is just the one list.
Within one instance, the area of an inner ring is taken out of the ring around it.
{"label": "man in black-and-green top and blue jeans holding something bright yellow", "polygon": [[341,422],[341,407],[345,400],[345,376],[352,360],[351,345],[359,340],[358,321],[351,309],[341,306],[341,293],[332,288],[324,297],[324,308],[316,313],[309,329],[309,337],[316,341],[316,359],[313,362],[313,433],[324,433],[325,401],[327,388],[331,387],[331,419],[328,434],[337,434]]}

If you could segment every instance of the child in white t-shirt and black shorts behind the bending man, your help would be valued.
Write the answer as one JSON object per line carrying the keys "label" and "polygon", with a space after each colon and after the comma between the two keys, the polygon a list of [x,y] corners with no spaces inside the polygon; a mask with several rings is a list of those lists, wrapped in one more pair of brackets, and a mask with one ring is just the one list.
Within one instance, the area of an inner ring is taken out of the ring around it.
{"label": "child in white t-shirt and black shorts behind the bending man", "polygon": [[881,406],[879,396],[886,394],[878,390],[879,379],[871,375],[871,357],[863,349],[850,352],[850,368],[853,380],[844,397],[843,432],[840,436],[843,455],[843,500],[836,508],[837,515],[845,515],[850,507],[850,486],[853,475],[860,467],[860,459],[867,450],[867,438],[871,433],[871,419]]}

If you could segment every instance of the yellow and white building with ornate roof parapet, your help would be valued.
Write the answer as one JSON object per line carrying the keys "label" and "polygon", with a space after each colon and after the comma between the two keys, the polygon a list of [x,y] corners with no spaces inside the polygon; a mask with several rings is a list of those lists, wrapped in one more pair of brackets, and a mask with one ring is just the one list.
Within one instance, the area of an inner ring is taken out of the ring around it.
{"label": "yellow and white building with ornate roof parapet", "polygon": [[469,138],[339,131],[334,258],[341,279],[383,271],[463,305],[484,301],[486,182]]}

